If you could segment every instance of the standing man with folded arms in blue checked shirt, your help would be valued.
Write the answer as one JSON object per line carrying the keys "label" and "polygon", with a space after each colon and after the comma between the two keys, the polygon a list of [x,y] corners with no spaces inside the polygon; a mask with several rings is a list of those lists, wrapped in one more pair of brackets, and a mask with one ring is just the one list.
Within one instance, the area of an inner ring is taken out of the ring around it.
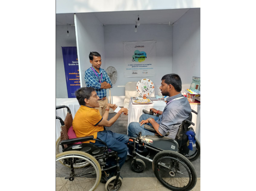
{"label": "standing man with folded arms in blue checked shirt", "polygon": [[86,86],[94,88],[97,95],[100,97],[98,101],[100,107],[97,107],[95,109],[98,109],[100,111],[100,115],[103,116],[105,110],[107,110],[106,107],[108,104],[106,89],[112,88],[113,86],[107,72],[100,68],[101,55],[97,52],[90,52],[89,59],[92,67],[85,71],[84,80]]}

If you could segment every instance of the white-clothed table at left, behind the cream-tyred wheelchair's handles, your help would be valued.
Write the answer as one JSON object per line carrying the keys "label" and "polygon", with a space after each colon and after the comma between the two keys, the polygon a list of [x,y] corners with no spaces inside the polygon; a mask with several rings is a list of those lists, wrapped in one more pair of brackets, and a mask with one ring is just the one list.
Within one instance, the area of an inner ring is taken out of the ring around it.
{"label": "white-clothed table at left, behind the cream-tyred wheelchair's handles", "polygon": [[[79,110],[80,105],[76,98],[63,98],[63,99],[56,99],[56,106],[65,105],[68,106],[73,118],[77,110]],[[67,115],[67,108],[58,109],[56,110],[56,116],[60,117],[62,120],[65,120]],[[60,120],[56,119],[56,141],[60,137]]]}

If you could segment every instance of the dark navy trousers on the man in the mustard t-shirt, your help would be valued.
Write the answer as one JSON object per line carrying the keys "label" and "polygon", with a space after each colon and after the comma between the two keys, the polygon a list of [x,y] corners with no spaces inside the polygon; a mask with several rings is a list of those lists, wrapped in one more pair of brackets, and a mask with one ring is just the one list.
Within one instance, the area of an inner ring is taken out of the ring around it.
{"label": "dark navy trousers on the man in the mustard t-shirt", "polygon": [[[121,168],[125,163],[125,159],[127,157],[127,144],[129,137],[124,134],[113,133],[112,131],[101,131],[98,132],[97,139],[104,141],[109,149],[118,153],[118,157],[120,157],[119,165]],[[96,141],[93,144],[98,147],[105,146],[99,141]],[[114,157],[109,158],[106,162],[109,166],[114,166],[117,164]]]}

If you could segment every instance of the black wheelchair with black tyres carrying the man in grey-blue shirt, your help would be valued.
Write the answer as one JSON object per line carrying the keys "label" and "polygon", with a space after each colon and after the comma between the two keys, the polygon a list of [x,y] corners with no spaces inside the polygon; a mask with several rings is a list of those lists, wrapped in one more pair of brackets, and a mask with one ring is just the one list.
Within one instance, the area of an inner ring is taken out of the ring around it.
{"label": "black wheelchair with black tyres carrying the man in grey-blue shirt", "polygon": [[[146,114],[153,115],[152,111],[148,112],[143,110]],[[197,112],[193,111],[195,114]],[[144,129],[155,132],[155,136],[142,136],[139,132],[139,136],[129,137],[128,146],[133,149],[133,161],[131,162],[131,169],[134,172],[141,173],[145,170],[146,165],[142,159],[152,162],[153,172],[166,188],[173,191],[189,191],[192,190],[197,182],[196,170],[191,163],[192,160],[196,160],[200,156],[200,143],[196,141],[196,147],[190,153],[187,143],[188,136],[187,131],[192,130],[190,125],[195,125],[191,122],[192,113],[187,120],[184,120],[180,125],[177,136],[174,139],[160,136],[156,133],[155,129],[150,125],[144,125]],[[149,150],[147,156],[143,156],[136,152],[136,148],[146,147]],[[156,152],[155,157],[150,159],[150,153]]]}

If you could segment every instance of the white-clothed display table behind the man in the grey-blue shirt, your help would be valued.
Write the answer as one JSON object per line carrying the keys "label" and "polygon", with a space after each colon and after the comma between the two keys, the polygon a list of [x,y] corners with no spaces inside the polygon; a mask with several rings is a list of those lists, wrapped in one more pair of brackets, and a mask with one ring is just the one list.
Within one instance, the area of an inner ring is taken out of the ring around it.
{"label": "white-clothed display table behind the man in the grey-blue shirt", "polygon": [[[152,104],[146,104],[146,105],[135,105],[131,103],[129,103],[129,112],[128,112],[128,125],[131,122],[139,122],[139,118],[140,116],[143,114],[143,110],[147,110],[149,111],[150,108],[155,108],[156,110],[160,110],[163,111],[164,107],[166,106],[166,102],[164,100],[162,101],[153,101]],[[191,109],[198,112],[198,115],[192,113],[192,122],[195,123],[195,126],[193,127],[193,129],[196,132],[196,138],[197,140],[199,140],[200,142],[200,122],[201,122],[201,105],[198,104],[194,104],[191,103],[190,104]]]}

